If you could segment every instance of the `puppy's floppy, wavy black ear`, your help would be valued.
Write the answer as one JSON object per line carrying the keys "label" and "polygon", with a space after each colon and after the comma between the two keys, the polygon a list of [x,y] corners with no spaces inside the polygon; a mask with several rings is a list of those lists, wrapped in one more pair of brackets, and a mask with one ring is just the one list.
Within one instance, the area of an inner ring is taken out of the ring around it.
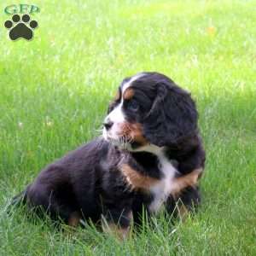
{"label": "puppy's floppy, wavy black ear", "polygon": [[195,134],[198,114],[190,94],[172,80],[160,81],[156,86],[156,97],[143,122],[148,141],[163,147]]}

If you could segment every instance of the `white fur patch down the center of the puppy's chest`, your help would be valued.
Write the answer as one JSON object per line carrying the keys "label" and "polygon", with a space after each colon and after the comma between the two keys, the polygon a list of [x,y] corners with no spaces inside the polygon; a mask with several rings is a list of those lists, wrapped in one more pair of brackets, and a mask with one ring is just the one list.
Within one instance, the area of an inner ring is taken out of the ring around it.
{"label": "white fur patch down the center of the puppy's chest", "polygon": [[164,154],[159,154],[158,158],[160,160],[160,172],[162,172],[163,177],[160,183],[157,183],[152,188],[150,192],[154,195],[154,200],[148,206],[150,212],[158,212],[163,203],[166,202],[168,196],[171,194],[174,185],[174,177],[177,169],[172,166],[172,162],[166,158]]}

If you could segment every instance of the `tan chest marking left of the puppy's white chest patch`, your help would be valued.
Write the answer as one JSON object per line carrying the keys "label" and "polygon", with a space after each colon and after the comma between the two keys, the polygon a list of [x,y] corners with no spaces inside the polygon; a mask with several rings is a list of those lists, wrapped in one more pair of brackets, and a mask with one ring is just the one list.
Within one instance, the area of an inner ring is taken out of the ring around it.
{"label": "tan chest marking left of the puppy's white chest patch", "polygon": [[131,185],[131,189],[150,189],[160,180],[154,177],[145,176],[133,168],[124,164],[120,168],[121,172],[124,174],[126,181]]}

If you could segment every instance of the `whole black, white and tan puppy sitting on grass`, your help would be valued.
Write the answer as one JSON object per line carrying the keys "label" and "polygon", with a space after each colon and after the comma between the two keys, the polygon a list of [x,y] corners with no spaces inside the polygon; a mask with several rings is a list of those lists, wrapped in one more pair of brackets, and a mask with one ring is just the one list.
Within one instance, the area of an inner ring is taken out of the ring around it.
{"label": "whole black, white and tan puppy sitting on grass", "polygon": [[205,152],[195,102],[160,73],[124,79],[104,120],[102,137],[44,168],[23,192],[31,207],[77,225],[102,221],[125,236],[131,218],[166,207],[198,205]]}

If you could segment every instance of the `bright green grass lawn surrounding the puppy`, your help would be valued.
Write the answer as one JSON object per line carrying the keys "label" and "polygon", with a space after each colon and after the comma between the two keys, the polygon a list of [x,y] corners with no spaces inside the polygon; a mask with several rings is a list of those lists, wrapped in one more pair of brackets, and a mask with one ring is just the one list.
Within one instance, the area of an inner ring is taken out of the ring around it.
{"label": "bright green grass lawn surrounding the puppy", "polygon": [[[16,2],[18,3],[18,2]],[[1,255],[256,255],[256,1],[26,1],[31,42],[0,9]],[[191,91],[207,151],[195,217],[158,217],[120,243],[93,228],[27,220],[10,198],[99,135],[119,82],[158,71]]]}

